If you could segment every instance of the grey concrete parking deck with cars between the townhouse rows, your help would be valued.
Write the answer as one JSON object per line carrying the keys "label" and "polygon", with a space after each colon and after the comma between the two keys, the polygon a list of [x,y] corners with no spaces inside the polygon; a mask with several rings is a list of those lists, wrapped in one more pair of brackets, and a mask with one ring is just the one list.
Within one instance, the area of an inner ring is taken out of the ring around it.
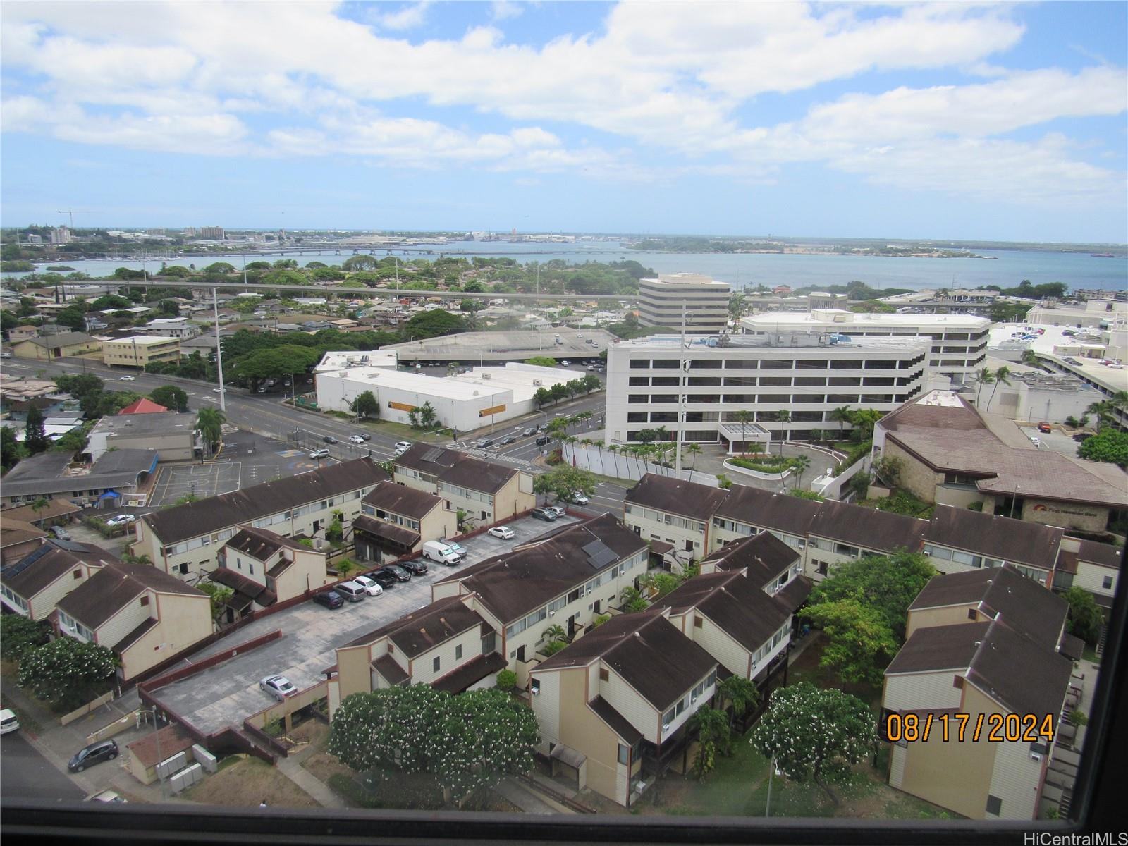
{"label": "grey concrete parking deck with cars between the townhouse rows", "polygon": [[[482,534],[462,541],[468,555],[455,567],[428,562],[426,574],[396,584],[378,597],[346,602],[342,608],[332,610],[314,602],[302,602],[255,620],[230,637],[194,654],[191,660],[200,661],[274,631],[281,631],[283,636],[195,676],[167,685],[155,691],[156,696],[202,731],[214,732],[228,725],[240,725],[246,716],[262,711],[272,702],[267,694],[258,689],[258,681],[264,676],[282,673],[299,689],[316,685],[325,678],[325,670],[336,663],[336,646],[429,605],[432,582],[563,525],[578,521],[579,518],[571,515],[552,523],[531,518],[517,520],[509,523],[517,535],[512,540]],[[185,661],[177,668],[182,666],[186,667],[188,662]]]}

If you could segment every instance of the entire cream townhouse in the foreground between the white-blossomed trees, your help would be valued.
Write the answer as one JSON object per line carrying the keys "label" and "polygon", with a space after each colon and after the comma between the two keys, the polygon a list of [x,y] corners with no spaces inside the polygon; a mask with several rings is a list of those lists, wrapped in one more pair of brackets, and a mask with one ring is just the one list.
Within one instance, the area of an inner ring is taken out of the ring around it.
{"label": "entire cream townhouse in the foreground between the white-blossomed trees", "polygon": [[554,774],[629,807],[687,769],[687,723],[712,702],[717,670],[660,611],[614,617],[532,670],[538,751]]}

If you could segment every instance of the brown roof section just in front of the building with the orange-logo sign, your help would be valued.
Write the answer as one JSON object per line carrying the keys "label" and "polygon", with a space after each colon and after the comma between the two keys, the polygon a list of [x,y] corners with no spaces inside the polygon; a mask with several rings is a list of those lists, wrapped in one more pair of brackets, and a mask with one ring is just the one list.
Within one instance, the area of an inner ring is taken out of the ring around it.
{"label": "brown roof section just in front of the building with the orange-logo sign", "polygon": [[1001,561],[1052,570],[1063,534],[1052,526],[936,505],[924,539]]}

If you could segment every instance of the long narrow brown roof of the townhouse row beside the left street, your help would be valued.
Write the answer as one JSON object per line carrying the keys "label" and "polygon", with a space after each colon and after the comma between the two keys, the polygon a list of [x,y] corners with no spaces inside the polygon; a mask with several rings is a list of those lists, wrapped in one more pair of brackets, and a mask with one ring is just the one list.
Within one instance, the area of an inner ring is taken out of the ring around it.
{"label": "long narrow brown roof of the townhouse row beside the left street", "polygon": [[346,491],[376,485],[388,478],[372,459],[323,467],[241,491],[211,496],[186,505],[146,514],[142,520],[161,544],[199,537],[229,526],[250,522],[259,517],[287,511],[306,502],[328,499]]}

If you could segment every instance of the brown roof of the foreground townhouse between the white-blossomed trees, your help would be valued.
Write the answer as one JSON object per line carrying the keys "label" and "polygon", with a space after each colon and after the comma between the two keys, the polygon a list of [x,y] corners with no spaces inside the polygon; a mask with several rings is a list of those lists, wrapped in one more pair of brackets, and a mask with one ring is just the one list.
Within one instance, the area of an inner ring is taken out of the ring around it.
{"label": "brown roof of the foreground townhouse between the white-blossomed trees", "polygon": [[620,614],[534,669],[584,667],[601,660],[659,712],[716,667],[716,660],[658,611]]}

